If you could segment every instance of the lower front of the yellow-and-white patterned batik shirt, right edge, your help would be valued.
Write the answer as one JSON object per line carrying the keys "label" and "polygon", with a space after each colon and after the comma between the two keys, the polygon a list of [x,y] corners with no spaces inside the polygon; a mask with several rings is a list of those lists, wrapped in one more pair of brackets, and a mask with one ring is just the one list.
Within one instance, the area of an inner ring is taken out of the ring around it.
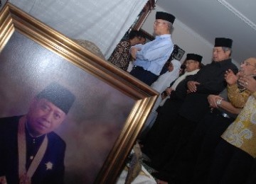
{"label": "lower front of the yellow-and-white patterned batik shirt, right edge", "polygon": [[225,141],[256,157],[256,92],[221,136]]}

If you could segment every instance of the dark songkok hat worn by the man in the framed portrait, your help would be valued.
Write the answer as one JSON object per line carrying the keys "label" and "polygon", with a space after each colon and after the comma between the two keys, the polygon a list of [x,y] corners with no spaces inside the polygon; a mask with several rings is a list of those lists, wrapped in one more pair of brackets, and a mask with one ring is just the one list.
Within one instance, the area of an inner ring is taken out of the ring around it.
{"label": "dark songkok hat worn by the man in the framed portrait", "polygon": [[75,101],[73,93],[57,83],[51,83],[49,86],[46,86],[36,97],[38,99],[46,98],[46,100],[49,100],[66,114]]}

